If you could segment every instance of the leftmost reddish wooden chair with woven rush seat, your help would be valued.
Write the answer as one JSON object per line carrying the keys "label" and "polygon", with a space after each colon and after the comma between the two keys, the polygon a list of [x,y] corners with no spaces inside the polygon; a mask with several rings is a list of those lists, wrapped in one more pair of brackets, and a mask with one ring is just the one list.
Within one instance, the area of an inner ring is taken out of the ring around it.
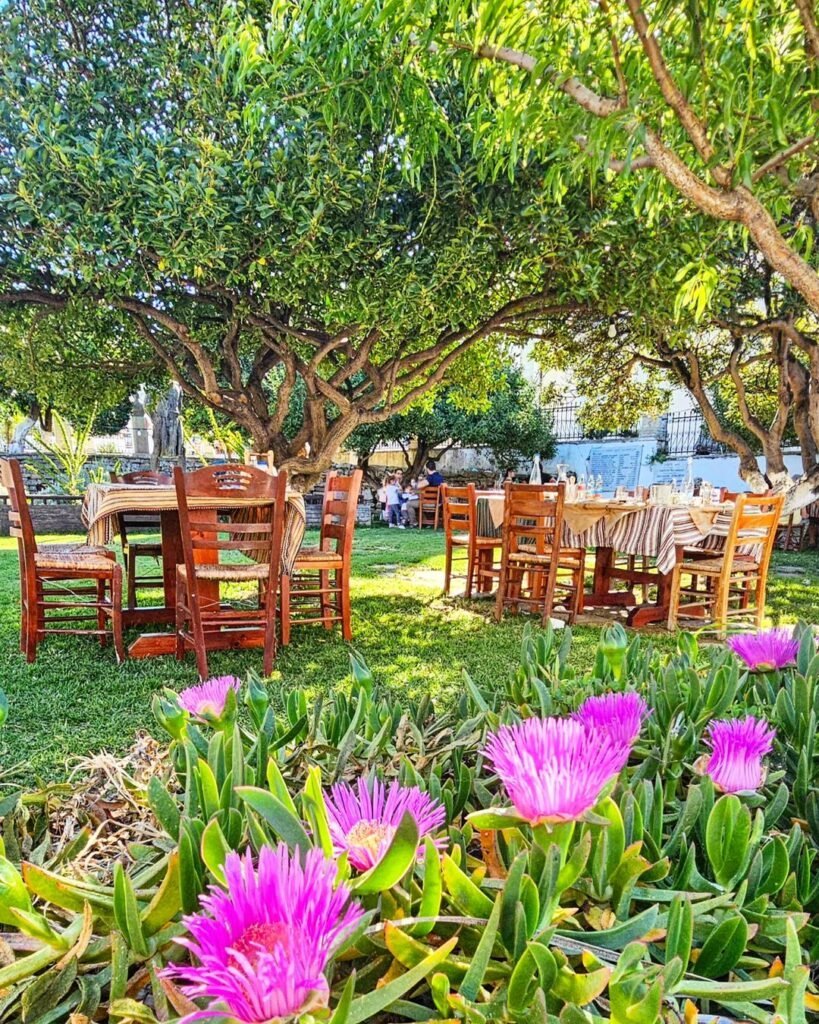
{"label": "leftmost reddish wooden chair with woven rush seat", "polygon": [[16,459],[0,459],[0,479],[8,492],[9,534],[17,541],[19,646],[26,659],[35,660],[47,633],[96,636],[104,645],[110,632],[122,662],[122,566],[115,553],[89,545],[38,544]]}

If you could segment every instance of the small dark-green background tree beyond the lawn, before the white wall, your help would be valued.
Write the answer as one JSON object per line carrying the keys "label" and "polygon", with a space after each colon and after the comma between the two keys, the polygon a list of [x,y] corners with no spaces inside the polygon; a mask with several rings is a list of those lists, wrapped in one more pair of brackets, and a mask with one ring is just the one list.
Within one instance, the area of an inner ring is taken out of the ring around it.
{"label": "small dark-green background tree beyond the lawn, before the white wall", "polygon": [[374,452],[385,442],[400,445],[406,475],[423,475],[433,452],[456,446],[485,447],[497,466],[509,466],[534,455],[550,457],[555,444],[549,421],[532,386],[518,370],[507,369],[479,408],[463,408],[458,391],[442,389],[406,413],[355,430],[349,447],[369,470]]}

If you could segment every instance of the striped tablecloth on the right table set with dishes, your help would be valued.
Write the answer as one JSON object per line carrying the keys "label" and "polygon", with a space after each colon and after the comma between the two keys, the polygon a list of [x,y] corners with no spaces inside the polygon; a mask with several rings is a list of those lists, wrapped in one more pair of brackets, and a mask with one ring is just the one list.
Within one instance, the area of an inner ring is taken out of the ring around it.
{"label": "striped tablecloth on the right table set with dishes", "polygon": [[[478,496],[478,534],[500,537],[498,495]],[[660,572],[671,572],[679,547],[718,549],[731,525],[731,510],[686,508],[683,505],[622,505],[586,502],[566,505],[563,544],[570,548],[613,548],[626,555],[654,558]],[[594,513],[599,512],[598,516]],[[579,514],[578,514],[579,513]],[[571,523],[581,527],[578,532]],[[588,525],[587,525],[588,523]]]}

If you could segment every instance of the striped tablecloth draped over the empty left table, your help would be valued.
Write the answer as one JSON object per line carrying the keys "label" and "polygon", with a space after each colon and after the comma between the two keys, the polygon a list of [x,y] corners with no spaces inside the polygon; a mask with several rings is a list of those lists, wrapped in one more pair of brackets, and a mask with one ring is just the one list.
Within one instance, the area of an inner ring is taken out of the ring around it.
{"label": "striped tablecloth draped over the empty left table", "polygon": [[[191,508],[224,508],[223,498],[189,498]],[[264,505],[258,499],[236,500],[230,508],[253,508]],[[118,532],[117,517],[121,512],[168,512],[178,508],[175,487],[143,487],[138,483],[92,483],[85,493],[82,520],[88,529],[89,544],[110,544]],[[307,513],[304,498],[296,490],[288,492],[285,509],[285,532],[282,540],[282,569],[289,573],[304,540]]]}

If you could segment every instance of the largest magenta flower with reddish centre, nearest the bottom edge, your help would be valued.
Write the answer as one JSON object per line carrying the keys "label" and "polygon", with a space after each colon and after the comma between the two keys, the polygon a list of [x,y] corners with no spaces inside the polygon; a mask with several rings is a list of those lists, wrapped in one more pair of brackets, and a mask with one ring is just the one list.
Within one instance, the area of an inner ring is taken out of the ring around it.
{"label": "largest magenta flower with reddish centre, nearest the bottom edge", "polygon": [[167,971],[186,995],[208,1000],[183,1022],[262,1024],[326,1007],[327,966],[363,913],[335,887],[336,865],[318,849],[300,857],[279,844],[262,847],[258,871],[250,851],[229,853],[224,872],[227,890],[212,886],[203,911],[183,919],[190,937],[176,940],[198,963]]}

